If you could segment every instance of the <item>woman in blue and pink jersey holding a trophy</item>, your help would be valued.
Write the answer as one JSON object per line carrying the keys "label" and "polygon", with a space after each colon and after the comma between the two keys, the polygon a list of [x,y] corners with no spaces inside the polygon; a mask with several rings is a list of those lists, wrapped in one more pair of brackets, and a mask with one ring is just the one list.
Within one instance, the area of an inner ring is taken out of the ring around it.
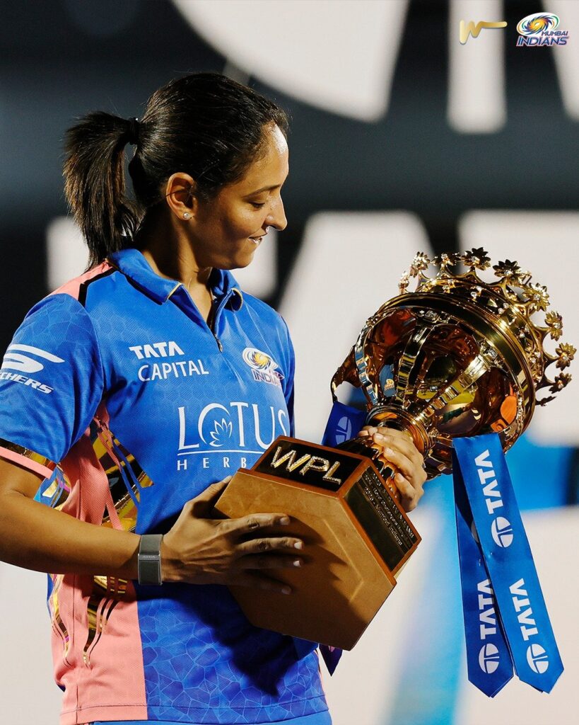
{"label": "woman in blue and pink jersey holding a trophy", "polygon": [[[274,570],[307,542],[284,512],[212,511],[293,433],[287,327],[229,273],[285,228],[287,173],[284,112],[211,73],[160,88],[140,122],[97,112],[67,133],[90,269],[30,310],[0,371],[0,555],[51,572],[62,725],[330,722],[314,645],[251,626],[222,586],[291,595]],[[420,455],[365,435],[413,508]]]}

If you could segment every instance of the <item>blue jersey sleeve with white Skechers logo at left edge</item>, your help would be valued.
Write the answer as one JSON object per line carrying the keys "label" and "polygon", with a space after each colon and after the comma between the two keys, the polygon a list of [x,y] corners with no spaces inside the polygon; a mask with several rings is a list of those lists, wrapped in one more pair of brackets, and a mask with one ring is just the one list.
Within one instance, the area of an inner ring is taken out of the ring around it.
{"label": "blue jersey sleeve with white Skechers logo at left edge", "polygon": [[17,329],[0,368],[0,446],[11,443],[59,463],[88,428],[103,396],[93,324],[69,294],[38,302]]}

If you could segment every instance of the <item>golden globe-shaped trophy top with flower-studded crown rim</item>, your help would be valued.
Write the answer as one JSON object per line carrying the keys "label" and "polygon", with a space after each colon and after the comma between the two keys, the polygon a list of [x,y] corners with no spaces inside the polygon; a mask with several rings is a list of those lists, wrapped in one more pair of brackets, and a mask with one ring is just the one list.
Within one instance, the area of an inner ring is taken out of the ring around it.
{"label": "golden globe-shaped trophy top with flower-studded crown rim", "polygon": [[495,432],[508,450],[535,406],[570,382],[577,351],[559,341],[562,329],[546,287],[518,262],[491,269],[482,247],[433,259],[418,252],[400,295],[368,318],[331,389],[336,399],[342,382],[360,388],[367,422],[410,433],[434,477],[452,468],[452,439]]}

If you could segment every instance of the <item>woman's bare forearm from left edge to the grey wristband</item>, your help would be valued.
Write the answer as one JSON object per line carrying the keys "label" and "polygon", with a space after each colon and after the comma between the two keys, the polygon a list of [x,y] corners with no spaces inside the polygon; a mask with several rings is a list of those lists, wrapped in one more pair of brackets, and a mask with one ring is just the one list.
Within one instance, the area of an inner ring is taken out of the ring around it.
{"label": "woman's bare forearm from left edge to the grey wristband", "polygon": [[34,571],[137,579],[140,537],[78,521],[18,492],[0,497],[0,560]]}

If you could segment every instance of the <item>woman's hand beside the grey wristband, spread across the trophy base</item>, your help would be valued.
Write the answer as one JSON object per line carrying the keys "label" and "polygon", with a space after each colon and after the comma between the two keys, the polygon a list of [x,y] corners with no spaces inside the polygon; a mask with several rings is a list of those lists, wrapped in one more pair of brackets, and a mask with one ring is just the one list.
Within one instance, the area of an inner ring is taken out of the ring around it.
{"label": "woman's hand beside the grey wristband, spread across the trophy base", "polygon": [[[242,518],[212,518],[214,504],[231,480],[211,484],[187,501],[161,543],[163,581],[189,584],[233,584],[290,594],[291,589],[263,569],[303,565],[297,555],[303,542],[271,533],[290,523],[284,513],[254,513]],[[263,531],[267,529],[267,533]]]}

